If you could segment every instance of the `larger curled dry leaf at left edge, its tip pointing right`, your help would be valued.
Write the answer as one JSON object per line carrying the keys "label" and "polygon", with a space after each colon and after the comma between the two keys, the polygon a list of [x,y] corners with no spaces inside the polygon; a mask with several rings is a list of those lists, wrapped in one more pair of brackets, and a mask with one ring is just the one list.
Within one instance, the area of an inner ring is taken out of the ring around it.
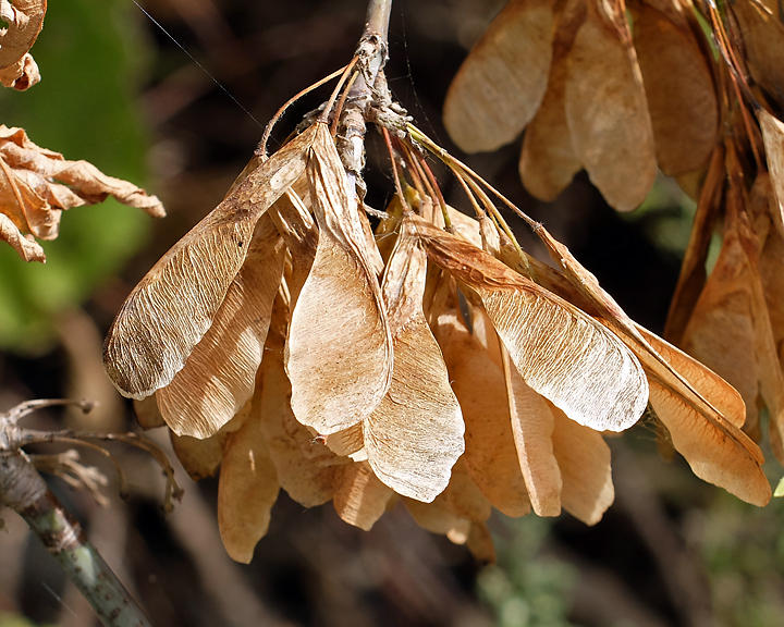
{"label": "larger curled dry leaf at left edge, its tip pointing right", "polygon": [[58,236],[62,211],[108,196],[156,218],[164,216],[156,196],[87,161],[68,161],[34,144],[22,128],[0,124],[0,238],[25,261],[46,260],[36,238]]}

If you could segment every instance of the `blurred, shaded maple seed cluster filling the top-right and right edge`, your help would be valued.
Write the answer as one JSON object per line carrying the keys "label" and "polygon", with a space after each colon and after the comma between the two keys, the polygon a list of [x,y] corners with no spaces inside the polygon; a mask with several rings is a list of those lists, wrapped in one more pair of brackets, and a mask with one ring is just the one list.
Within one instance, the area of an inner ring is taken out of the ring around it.
{"label": "blurred, shaded maple seed cluster filling the top-right and right edge", "polygon": [[[511,0],[455,76],[444,123],[468,151],[525,128],[520,177],[543,200],[585,168],[610,205],[633,209],[657,165],[698,199],[664,335],[740,392],[738,426],[757,441],[768,431],[784,464],[780,9]],[[722,246],[710,268],[714,236]]]}

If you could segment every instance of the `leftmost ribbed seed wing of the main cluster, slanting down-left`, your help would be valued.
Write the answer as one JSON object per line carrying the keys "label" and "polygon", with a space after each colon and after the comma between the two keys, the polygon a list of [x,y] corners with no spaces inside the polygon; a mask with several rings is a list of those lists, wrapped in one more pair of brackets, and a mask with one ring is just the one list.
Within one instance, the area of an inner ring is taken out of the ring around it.
{"label": "leftmost ribbed seed wing of the main cluster, slanting down-left", "polygon": [[314,136],[308,128],[252,172],[127,297],[103,346],[123,395],[144,398],[183,368],[245,261],[258,219],[305,171]]}

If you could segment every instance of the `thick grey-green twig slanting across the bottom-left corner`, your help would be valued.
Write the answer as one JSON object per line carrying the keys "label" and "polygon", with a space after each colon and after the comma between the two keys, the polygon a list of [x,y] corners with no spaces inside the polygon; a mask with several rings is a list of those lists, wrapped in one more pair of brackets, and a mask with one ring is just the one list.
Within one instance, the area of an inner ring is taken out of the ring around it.
{"label": "thick grey-green twig slanting across the bottom-left corner", "polygon": [[20,451],[0,451],[0,506],[22,516],[107,627],[150,627],[148,618]]}

